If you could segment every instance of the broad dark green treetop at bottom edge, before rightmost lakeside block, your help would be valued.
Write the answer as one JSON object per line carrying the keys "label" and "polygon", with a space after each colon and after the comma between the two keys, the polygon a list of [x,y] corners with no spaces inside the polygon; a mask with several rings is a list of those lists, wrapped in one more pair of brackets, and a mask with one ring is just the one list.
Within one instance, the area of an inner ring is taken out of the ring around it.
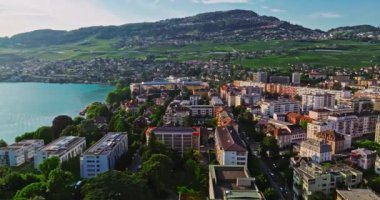
{"label": "broad dark green treetop at bottom edge, before rightmost lakeside block", "polygon": [[108,171],[86,181],[82,187],[85,200],[153,199],[147,183],[138,174],[127,174],[120,171]]}

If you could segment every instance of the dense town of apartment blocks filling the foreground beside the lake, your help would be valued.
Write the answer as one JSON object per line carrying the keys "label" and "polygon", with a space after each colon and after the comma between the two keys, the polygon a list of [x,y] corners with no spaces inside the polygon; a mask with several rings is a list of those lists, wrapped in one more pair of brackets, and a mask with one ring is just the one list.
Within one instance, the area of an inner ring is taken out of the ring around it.
{"label": "dense town of apartment blocks filling the foreground beside the lake", "polygon": [[119,85],[107,104],[82,111],[84,118],[61,116],[62,127],[54,120],[53,136],[37,130],[0,148],[0,165],[44,172],[53,158],[74,163],[84,180],[72,191],[80,199],[81,184],[115,169],[150,172],[147,163],[166,152],[178,157],[173,162],[188,159],[184,169],[166,173],[188,170],[191,160],[191,170],[200,171],[190,170],[197,177],[189,180],[204,191],[188,186],[173,194],[164,187],[158,190],[167,192],[164,199],[380,199],[380,87],[363,75],[368,70],[375,69],[355,76],[259,71],[223,84],[169,76]]}

